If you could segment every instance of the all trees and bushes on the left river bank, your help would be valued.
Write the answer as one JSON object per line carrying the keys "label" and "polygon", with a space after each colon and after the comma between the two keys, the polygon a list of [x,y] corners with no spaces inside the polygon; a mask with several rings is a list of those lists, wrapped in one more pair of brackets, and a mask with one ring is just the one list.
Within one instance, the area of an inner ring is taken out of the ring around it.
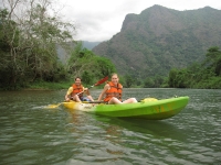
{"label": "all trees and bushes on the left river bank", "polygon": [[[50,14],[50,0],[7,2],[4,7],[8,8],[0,9],[0,89],[73,82],[76,76],[93,85],[115,72],[109,59],[96,56],[83,48],[82,43],[74,42],[74,24]],[[70,56],[65,64],[57,58],[57,45]]]}

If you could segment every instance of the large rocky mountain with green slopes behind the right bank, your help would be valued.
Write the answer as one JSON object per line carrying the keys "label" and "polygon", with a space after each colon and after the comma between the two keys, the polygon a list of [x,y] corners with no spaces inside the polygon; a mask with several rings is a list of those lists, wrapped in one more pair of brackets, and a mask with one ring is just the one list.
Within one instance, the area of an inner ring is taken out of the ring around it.
{"label": "large rocky mountain with green slopes behind the right bank", "polygon": [[206,7],[177,11],[152,6],[140,14],[127,14],[119,33],[92,51],[112,59],[120,75],[146,78],[168,76],[204,58],[221,45],[221,11]]}

